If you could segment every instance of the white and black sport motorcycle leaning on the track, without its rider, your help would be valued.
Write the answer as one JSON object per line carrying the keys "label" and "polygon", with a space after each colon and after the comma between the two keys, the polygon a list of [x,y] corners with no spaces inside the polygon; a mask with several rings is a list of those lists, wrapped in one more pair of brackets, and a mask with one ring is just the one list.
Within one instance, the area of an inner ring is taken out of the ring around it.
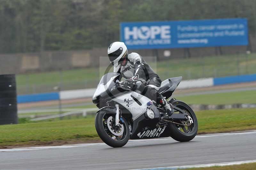
{"label": "white and black sport motorcycle leaning on the track, without its rider", "polygon": [[[119,73],[102,76],[92,97],[99,110],[95,128],[103,142],[111,147],[122,147],[129,139],[159,138],[171,136],[176,141],[192,140],[197,134],[197,119],[188,104],[170,98],[174,113],[168,116],[164,108],[141,95],[141,82],[134,88],[124,88],[118,82]],[[134,80],[138,80],[138,75]],[[169,78],[158,90],[166,99],[172,96],[182,77]]]}

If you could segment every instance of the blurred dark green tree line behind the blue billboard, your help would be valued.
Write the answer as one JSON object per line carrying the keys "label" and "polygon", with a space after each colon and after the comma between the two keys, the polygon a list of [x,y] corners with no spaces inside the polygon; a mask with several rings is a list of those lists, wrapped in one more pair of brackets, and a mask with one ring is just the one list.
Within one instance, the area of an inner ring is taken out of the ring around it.
{"label": "blurred dark green tree line behind the blue billboard", "polygon": [[247,18],[255,0],[0,0],[0,53],[83,50],[119,40],[120,22]]}

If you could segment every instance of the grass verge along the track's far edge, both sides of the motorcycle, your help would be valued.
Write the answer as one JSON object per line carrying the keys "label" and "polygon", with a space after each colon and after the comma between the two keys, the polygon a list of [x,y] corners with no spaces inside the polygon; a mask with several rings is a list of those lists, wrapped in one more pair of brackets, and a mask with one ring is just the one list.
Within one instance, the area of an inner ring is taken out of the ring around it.
{"label": "grass verge along the track's far edge, both sides of the motorcycle", "polygon": [[[256,109],[230,109],[196,112],[199,133],[256,129]],[[45,143],[49,141],[99,139],[94,117],[0,126],[0,146]]]}

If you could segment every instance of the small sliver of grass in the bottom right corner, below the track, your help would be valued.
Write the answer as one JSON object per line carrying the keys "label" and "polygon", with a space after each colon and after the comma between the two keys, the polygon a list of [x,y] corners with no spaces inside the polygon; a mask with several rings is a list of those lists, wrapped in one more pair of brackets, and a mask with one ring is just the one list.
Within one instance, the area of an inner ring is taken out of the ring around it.
{"label": "small sliver of grass in the bottom right corner, below the track", "polygon": [[214,166],[207,168],[188,168],[188,170],[255,170],[256,163],[231,165],[231,166]]}

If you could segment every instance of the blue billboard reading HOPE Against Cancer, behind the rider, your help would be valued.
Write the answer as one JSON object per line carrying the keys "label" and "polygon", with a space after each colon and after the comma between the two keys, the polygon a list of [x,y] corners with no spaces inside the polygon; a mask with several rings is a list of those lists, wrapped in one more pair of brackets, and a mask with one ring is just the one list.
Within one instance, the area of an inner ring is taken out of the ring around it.
{"label": "blue billboard reading HOPE Against Cancer, behind the rider", "polygon": [[128,49],[247,45],[247,19],[123,22],[120,39]]}

